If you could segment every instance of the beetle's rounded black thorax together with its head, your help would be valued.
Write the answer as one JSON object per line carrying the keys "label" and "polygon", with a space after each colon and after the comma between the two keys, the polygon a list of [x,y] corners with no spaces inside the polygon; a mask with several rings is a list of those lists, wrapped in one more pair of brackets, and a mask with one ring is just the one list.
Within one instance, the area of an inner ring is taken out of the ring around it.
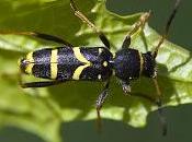
{"label": "beetle's rounded black thorax together with its head", "polygon": [[142,54],[136,49],[123,48],[114,57],[115,75],[123,80],[136,80],[140,75],[156,76],[156,62],[151,52]]}

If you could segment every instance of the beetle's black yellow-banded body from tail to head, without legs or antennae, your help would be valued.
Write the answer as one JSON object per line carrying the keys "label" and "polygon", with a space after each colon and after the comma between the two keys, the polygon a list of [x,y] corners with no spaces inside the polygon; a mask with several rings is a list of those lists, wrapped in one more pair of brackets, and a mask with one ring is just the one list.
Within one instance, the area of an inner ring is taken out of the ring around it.
{"label": "beetle's black yellow-banded body from tail to head, without legs or antennae", "polygon": [[[53,50],[56,50],[57,55],[53,55]],[[79,52],[75,54],[77,50]],[[142,74],[148,78],[155,78],[156,74],[156,63],[151,54],[140,54],[132,48],[123,48],[113,57],[112,52],[105,47],[71,48],[64,46],[36,50],[32,52],[32,58],[27,59],[26,56],[21,60],[22,71],[25,72],[25,68],[33,64],[31,72],[25,73],[58,81],[106,81],[112,75],[112,71],[114,71],[115,76],[125,82],[138,79]],[[56,58],[56,61],[52,62],[52,58]],[[56,68],[50,70],[53,64]],[[79,67],[81,68],[80,71],[78,71]],[[54,71],[56,72],[55,79],[52,78]],[[75,74],[79,79],[75,78]]]}

